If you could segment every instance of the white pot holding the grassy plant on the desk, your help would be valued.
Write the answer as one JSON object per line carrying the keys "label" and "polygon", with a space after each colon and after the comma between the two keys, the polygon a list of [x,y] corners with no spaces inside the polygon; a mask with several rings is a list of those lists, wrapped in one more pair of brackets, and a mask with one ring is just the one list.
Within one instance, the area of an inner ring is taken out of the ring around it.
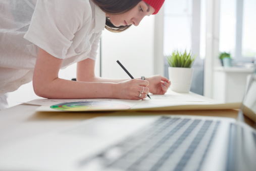
{"label": "white pot holding the grassy plant on the desk", "polygon": [[188,93],[191,87],[193,68],[169,67],[171,90],[178,93]]}

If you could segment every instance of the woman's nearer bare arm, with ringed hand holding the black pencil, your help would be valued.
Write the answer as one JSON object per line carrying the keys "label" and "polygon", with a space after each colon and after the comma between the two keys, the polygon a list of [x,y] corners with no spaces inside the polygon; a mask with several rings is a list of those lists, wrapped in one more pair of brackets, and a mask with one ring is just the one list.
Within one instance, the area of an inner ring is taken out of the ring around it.
{"label": "woman's nearer bare arm, with ringed hand holding the black pencil", "polygon": [[33,88],[36,95],[49,99],[116,98],[138,100],[146,98],[146,95],[141,98],[137,97],[141,85],[147,87],[147,81],[127,80],[113,83],[65,80],[58,77],[62,62],[62,59],[39,49],[33,75]]}

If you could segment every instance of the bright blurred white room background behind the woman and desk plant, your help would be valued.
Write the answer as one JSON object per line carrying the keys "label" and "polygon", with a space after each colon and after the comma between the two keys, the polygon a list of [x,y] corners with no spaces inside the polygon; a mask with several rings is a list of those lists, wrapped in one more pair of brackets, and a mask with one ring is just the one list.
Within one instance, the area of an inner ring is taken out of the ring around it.
{"label": "bright blurred white room background behind the woman and desk plant", "polygon": [[[103,32],[95,74],[128,78],[119,60],[134,77],[168,78],[165,55],[186,49],[197,54],[191,92],[223,103],[241,102],[256,57],[255,9],[255,0],[166,0],[157,15],[146,16],[138,27]],[[60,70],[59,77],[75,78],[76,64]],[[8,102],[11,107],[36,98],[30,82],[9,93]]]}

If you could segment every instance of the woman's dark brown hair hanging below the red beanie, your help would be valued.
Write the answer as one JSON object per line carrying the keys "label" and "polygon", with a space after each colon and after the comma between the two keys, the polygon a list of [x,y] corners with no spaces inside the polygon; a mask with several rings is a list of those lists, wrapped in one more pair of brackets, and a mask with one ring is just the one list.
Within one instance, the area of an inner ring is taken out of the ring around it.
{"label": "woman's dark brown hair hanging below the red beanie", "polygon": [[[111,15],[124,14],[133,9],[141,0],[92,0],[102,11]],[[111,32],[122,32],[128,29],[127,26],[114,26],[110,19],[106,17],[105,28]]]}

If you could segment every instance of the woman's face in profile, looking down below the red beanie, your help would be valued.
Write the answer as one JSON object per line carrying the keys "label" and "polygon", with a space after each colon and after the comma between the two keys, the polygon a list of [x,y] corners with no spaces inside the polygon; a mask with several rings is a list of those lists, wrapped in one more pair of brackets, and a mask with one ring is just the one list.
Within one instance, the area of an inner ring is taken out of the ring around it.
{"label": "woman's face in profile, looking down below the red beanie", "polygon": [[151,15],[153,13],[155,13],[155,9],[146,4],[144,1],[141,1],[139,2],[139,4],[137,4],[137,6],[124,14],[106,14],[106,17],[109,17],[111,23],[114,24],[114,26],[116,27],[132,24],[134,26],[138,26],[143,17]]}

